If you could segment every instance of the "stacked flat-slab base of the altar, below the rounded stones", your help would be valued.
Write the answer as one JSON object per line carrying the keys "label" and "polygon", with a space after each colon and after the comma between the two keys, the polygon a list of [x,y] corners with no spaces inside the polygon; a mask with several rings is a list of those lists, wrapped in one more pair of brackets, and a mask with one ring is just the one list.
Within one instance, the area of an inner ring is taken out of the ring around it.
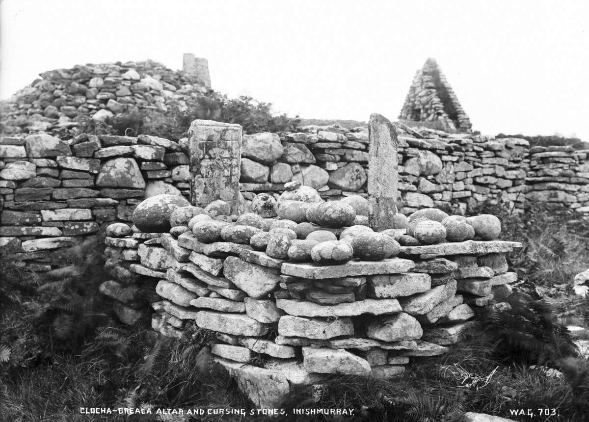
{"label": "stacked flat-slab base of the altar, below the rounded stones", "polygon": [[[143,237],[150,239],[127,244]],[[273,406],[287,384],[326,374],[392,377],[412,358],[443,354],[466,333],[475,308],[508,294],[517,277],[505,254],[521,246],[442,243],[402,247],[399,257],[380,261],[319,265],[243,243],[204,243],[184,226],[107,242],[136,247],[139,262],[128,269],[157,282],[154,330],[213,331],[214,360],[254,403]]]}

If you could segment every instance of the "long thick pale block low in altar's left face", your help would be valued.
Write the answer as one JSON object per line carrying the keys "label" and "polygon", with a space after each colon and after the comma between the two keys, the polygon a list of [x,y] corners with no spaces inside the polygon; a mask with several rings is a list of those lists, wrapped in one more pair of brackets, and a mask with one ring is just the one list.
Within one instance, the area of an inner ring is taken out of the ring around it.
{"label": "long thick pale block low in altar's left face", "polygon": [[215,311],[199,311],[196,314],[196,324],[207,330],[253,337],[265,335],[271,328],[270,325],[260,323],[247,315],[225,314]]}

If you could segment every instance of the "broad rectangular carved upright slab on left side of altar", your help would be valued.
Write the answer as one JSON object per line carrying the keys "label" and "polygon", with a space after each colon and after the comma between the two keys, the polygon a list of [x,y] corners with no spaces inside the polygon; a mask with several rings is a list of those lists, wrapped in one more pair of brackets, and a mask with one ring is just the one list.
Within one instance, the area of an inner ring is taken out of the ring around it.
{"label": "broad rectangular carved upright slab on left side of altar", "polygon": [[237,214],[241,172],[241,126],[195,120],[188,130],[190,146],[190,201],[205,207],[212,201],[231,204]]}

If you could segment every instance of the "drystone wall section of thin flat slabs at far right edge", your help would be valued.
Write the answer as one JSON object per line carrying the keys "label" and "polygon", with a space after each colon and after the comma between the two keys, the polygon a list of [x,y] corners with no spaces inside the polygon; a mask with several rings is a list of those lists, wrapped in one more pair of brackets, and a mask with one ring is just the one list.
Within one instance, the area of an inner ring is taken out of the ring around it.
{"label": "drystone wall section of thin flat slabs at far right edge", "polygon": [[570,146],[530,148],[526,177],[528,200],[565,204],[589,212],[589,162],[586,150]]}

